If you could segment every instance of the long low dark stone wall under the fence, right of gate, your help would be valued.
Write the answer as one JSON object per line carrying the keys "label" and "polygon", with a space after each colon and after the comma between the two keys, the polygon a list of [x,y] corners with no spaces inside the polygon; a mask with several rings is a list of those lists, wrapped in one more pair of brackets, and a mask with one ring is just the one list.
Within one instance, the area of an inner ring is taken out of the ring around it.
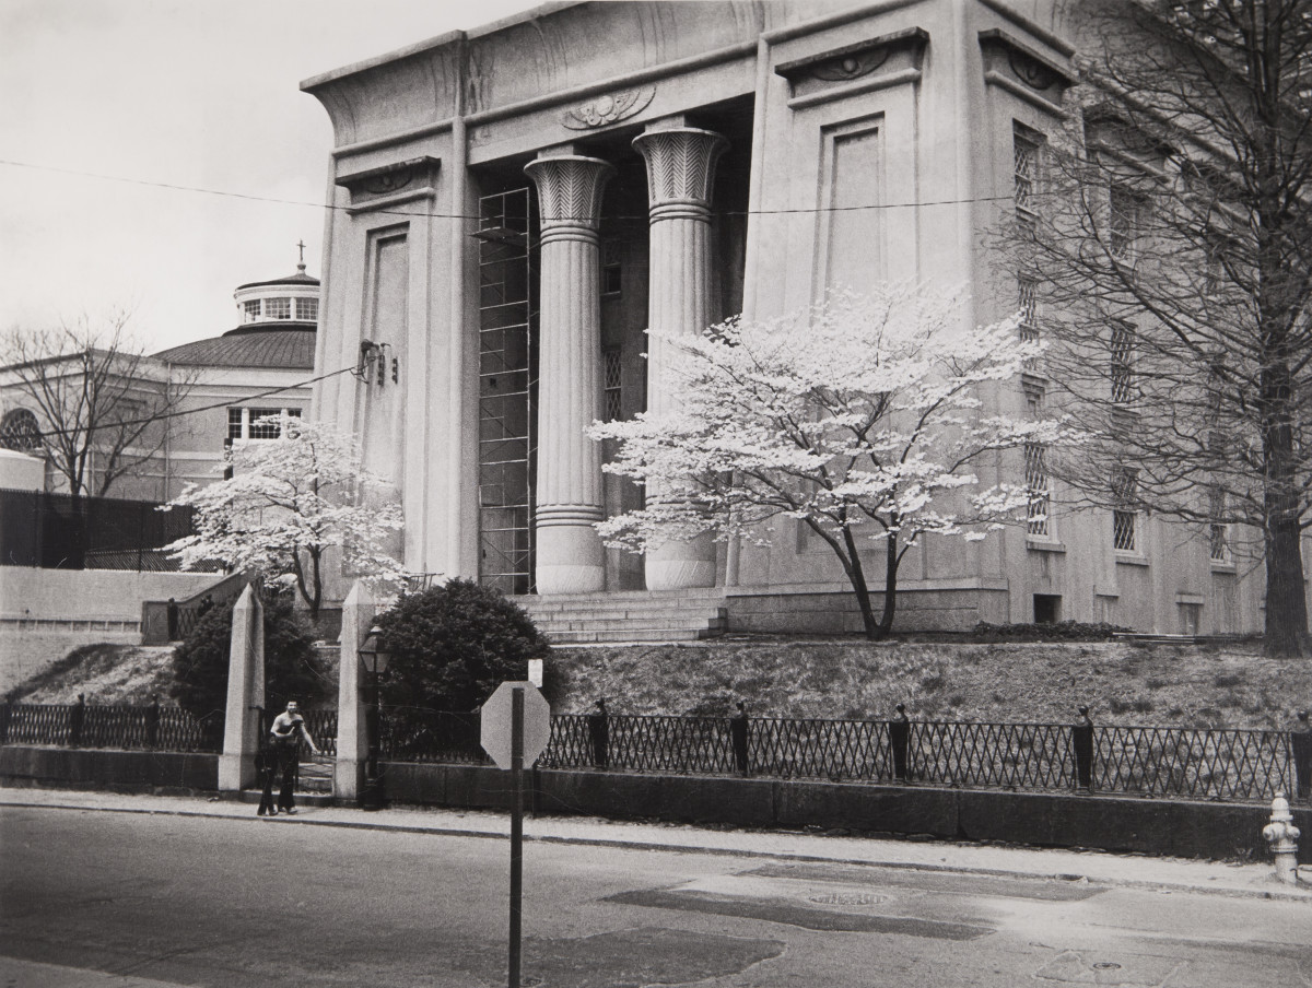
{"label": "long low dark stone wall under the fence, right of gate", "polygon": [[[656,819],[867,834],[1097,848],[1187,858],[1269,855],[1262,827],[1270,807],[1067,792],[807,782],[796,779],[539,770],[526,803],[547,813]],[[467,765],[388,762],[384,790],[398,803],[506,810],[510,775]],[[1312,808],[1294,810],[1312,863]]]}

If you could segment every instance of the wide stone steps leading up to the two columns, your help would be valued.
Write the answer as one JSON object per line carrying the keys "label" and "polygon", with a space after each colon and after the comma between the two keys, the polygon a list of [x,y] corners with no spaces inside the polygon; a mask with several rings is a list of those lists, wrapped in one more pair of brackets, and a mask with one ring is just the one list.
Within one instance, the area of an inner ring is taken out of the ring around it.
{"label": "wide stone steps leading up to the two columns", "polygon": [[556,644],[695,642],[724,634],[724,592],[631,590],[514,597]]}

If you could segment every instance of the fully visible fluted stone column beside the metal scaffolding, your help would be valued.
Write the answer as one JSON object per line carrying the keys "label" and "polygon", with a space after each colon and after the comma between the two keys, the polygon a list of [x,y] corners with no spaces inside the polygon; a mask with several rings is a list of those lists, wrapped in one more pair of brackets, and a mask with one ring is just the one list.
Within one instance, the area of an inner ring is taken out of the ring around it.
{"label": "fully visible fluted stone column beside the metal scaffolding", "polygon": [[525,167],[538,186],[542,273],[538,357],[538,593],[593,593],[605,556],[601,450],[584,434],[601,417],[601,297],[597,227],[614,168],[544,152]]}

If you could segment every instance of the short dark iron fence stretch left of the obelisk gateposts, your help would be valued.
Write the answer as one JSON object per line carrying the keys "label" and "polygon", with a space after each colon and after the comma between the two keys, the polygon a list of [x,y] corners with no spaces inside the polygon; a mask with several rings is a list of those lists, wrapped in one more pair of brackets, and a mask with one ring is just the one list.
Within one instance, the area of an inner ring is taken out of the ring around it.
{"label": "short dark iron fence stretch left of the obelisk gateposts", "polygon": [[199,719],[160,703],[5,703],[0,744],[218,752],[223,718]]}

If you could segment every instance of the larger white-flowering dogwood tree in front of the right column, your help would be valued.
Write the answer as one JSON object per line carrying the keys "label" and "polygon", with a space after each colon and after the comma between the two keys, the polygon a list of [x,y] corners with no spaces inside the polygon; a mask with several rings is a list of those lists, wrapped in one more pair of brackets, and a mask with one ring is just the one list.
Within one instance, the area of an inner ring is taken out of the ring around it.
{"label": "larger white-flowering dogwood tree in front of the right column", "polygon": [[[1075,438],[1055,419],[985,411],[981,391],[1015,378],[1042,345],[1022,341],[1014,319],[964,325],[962,303],[888,285],[663,337],[678,354],[673,411],[589,429],[617,442],[605,470],[648,492],[644,508],[597,525],[606,545],[646,552],[707,533],[768,543],[771,518],[796,518],[841,562],[867,638],[886,636],[912,546],[983,539],[1046,504],[1022,468],[1017,483],[988,487],[976,471],[997,470],[1005,450]],[[878,555],[879,617],[866,573]]]}

